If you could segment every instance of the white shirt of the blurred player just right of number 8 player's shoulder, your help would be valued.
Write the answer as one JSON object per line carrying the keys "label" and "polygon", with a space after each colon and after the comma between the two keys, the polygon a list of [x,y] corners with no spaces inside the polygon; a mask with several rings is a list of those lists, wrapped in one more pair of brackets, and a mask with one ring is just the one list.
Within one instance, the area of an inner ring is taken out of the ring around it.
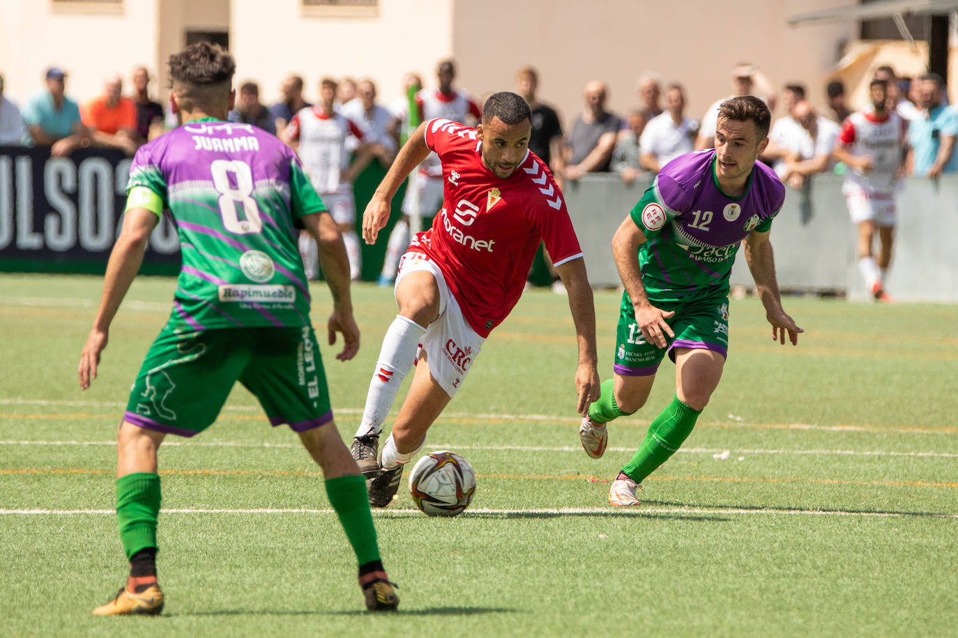
{"label": "white shirt of the blurred player just right of number 8 player's shoulder", "polygon": [[353,121],[338,114],[325,115],[317,106],[300,110],[289,121],[286,134],[298,142],[300,160],[320,194],[334,193],[343,185],[342,174],[350,164],[347,141],[362,142],[362,131]]}

